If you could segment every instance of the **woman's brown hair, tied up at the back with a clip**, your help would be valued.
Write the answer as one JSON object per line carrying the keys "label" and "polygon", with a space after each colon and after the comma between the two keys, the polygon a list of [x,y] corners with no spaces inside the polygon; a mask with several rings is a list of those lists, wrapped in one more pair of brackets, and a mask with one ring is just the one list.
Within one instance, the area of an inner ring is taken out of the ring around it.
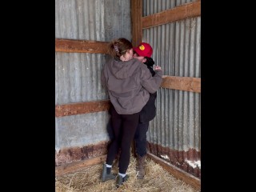
{"label": "woman's brown hair, tied up at the back with a clip", "polygon": [[120,58],[123,54],[126,54],[127,50],[133,48],[133,45],[126,38],[117,38],[114,39],[109,44],[108,54],[114,58]]}

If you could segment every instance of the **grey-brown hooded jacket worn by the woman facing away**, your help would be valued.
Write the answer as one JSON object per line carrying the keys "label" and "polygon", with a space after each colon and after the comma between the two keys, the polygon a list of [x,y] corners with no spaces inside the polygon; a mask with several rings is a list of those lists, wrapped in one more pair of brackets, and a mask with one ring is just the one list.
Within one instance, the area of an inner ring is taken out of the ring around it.
{"label": "grey-brown hooded jacket worn by the woman facing away", "polygon": [[111,58],[102,70],[102,86],[118,114],[135,114],[142,110],[162,83],[162,70],[152,77],[146,65],[133,58],[122,62]]}

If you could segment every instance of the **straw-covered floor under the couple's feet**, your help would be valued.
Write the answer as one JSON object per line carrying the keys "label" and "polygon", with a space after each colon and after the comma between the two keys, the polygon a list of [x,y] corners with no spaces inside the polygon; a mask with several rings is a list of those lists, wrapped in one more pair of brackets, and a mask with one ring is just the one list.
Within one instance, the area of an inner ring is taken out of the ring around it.
{"label": "straw-covered floor under the couple's feet", "polygon": [[[108,191],[136,191],[136,192],[199,192],[192,186],[174,178],[166,170],[156,164],[150,158],[146,158],[146,175],[144,179],[136,177],[136,159],[130,158],[130,165],[126,174],[129,174],[128,181],[119,188],[116,181],[102,182],[102,164],[87,167],[76,173],[65,174],[55,177],[56,192],[108,192]],[[113,166],[113,173],[118,173],[117,166]]]}

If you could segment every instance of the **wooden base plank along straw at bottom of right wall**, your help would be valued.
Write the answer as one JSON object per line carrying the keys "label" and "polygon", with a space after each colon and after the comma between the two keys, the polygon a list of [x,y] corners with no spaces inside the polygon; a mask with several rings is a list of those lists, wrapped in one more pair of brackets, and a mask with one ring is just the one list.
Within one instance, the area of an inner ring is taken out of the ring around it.
{"label": "wooden base plank along straw at bottom of right wall", "polygon": [[158,163],[164,170],[167,170],[170,174],[174,175],[175,178],[181,179],[183,182],[186,182],[190,186],[194,186],[197,190],[201,190],[201,179],[194,177],[194,175],[186,173],[186,171],[179,169],[177,166],[171,165],[169,162],[158,158],[154,154],[147,153],[148,158],[154,160]]}

